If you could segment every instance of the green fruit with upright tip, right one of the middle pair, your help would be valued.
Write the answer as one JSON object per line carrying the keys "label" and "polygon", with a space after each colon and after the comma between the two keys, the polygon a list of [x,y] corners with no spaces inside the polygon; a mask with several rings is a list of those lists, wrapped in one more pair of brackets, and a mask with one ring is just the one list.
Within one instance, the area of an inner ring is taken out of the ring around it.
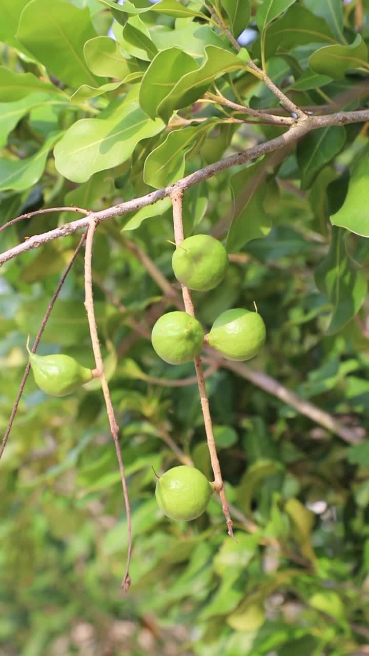
{"label": "green fruit with upright tip, right one of the middle pair", "polygon": [[257,312],[226,310],[215,319],[206,338],[228,360],[249,360],[265,343],[265,323]]}

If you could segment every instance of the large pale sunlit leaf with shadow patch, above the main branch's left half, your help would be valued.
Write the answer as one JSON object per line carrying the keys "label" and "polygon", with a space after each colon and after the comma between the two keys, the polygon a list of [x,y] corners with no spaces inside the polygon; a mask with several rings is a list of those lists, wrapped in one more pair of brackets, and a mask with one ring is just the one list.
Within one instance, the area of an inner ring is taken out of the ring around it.
{"label": "large pale sunlit leaf with shadow patch, above the main branch's left half", "polygon": [[162,128],[162,121],[150,121],[137,102],[128,102],[107,119],[81,119],[54,149],[56,169],[68,180],[86,182],[97,171],[124,162],[141,139]]}

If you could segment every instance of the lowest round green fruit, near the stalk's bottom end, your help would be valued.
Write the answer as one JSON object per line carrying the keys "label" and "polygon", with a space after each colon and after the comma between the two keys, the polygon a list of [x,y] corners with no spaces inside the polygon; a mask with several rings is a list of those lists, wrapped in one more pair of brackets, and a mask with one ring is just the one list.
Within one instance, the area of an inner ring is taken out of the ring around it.
{"label": "lowest round green fruit, near the stalk's bottom end", "polygon": [[183,464],[160,476],[155,496],[167,517],[188,522],[202,515],[213,491],[213,484],[202,472]]}

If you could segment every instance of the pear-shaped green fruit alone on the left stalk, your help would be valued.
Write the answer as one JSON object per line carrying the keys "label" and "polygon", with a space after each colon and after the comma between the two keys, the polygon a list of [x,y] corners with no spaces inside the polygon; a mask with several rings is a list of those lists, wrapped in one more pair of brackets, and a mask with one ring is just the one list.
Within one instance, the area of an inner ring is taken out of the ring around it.
{"label": "pear-shaped green fruit alone on the left stalk", "polygon": [[36,384],[51,396],[72,394],[93,378],[91,369],[82,367],[74,358],[62,354],[37,356],[30,353],[30,364]]}

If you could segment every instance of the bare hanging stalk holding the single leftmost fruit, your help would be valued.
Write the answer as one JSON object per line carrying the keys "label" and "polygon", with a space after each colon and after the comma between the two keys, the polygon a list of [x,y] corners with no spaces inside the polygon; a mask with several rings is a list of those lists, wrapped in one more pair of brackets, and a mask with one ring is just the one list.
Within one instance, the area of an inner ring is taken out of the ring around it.
{"label": "bare hanging stalk holding the single leftmost fruit", "polygon": [[95,318],[95,308],[93,303],[93,282],[92,282],[92,251],[93,251],[93,237],[97,227],[97,222],[94,218],[89,220],[89,229],[87,230],[86,251],[85,251],[85,308],[87,312],[87,319],[89,321],[89,329],[91,335],[91,344],[93,347],[93,354],[95,357],[96,368],[100,373],[102,393],[106,405],[106,412],[108,413],[108,420],[110,425],[110,432],[116,446],[116,454],[119,463],[119,472],[121,476],[121,484],[123,487],[125,514],[127,516],[127,532],[128,532],[128,550],[127,550],[127,564],[125,567],[125,575],[121,584],[124,592],[128,592],[131,585],[131,578],[129,576],[129,564],[131,562],[132,553],[132,527],[131,527],[131,508],[129,506],[127,481],[125,480],[125,473],[123,462],[121,459],[121,452],[119,447],[118,438],[118,425],[114,415],[114,408],[110,398],[110,391],[108,381],[104,371],[104,363],[102,361],[102,354],[100,350],[100,342],[98,341],[97,323]]}

